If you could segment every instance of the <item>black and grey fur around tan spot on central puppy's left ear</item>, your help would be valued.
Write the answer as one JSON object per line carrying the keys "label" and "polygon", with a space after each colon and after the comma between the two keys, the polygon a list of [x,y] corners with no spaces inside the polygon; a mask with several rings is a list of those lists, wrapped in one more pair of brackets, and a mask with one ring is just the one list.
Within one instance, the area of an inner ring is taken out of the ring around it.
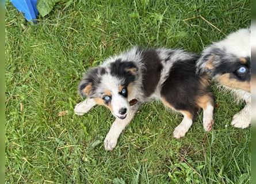
{"label": "black and grey fur around tan spot on central puppy's left ear", "polygon": [[101,78],[98,75],[99,69],[98,68],[90,68],[86,74],[83,76],[82,81],[78,85],[78,92],[81,94],[82,97],[85,97],[86,94],[83,93],[83,89],[87,85],[91,83],[91,92],[88,95],[89,97],[93,96],[94,90],[97,88],[97,85],[101,82]]}

